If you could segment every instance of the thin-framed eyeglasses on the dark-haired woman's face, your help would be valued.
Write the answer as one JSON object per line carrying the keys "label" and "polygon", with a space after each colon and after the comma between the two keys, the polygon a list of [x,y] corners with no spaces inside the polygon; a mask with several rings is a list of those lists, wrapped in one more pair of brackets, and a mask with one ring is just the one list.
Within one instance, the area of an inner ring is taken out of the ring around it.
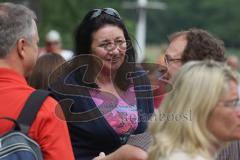
{"label": "thin-framed eyeglasses on the dark-haired woman's face", "polygon": [[100,44],[99,47],[105,49],[106,51],[113,51],[117,47],[123,51],[126,51],[129,48],[131,48],[131,43],[130,41],[118,40],[118,41],[115,41],[114,43],[106,42],[106,43]]}

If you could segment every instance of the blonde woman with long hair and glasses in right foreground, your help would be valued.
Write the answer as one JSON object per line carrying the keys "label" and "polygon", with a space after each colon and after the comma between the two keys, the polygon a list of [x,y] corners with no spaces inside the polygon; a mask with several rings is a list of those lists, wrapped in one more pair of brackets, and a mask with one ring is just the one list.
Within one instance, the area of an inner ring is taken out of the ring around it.
{"label": "blonde woman with long hair and glasses in right foreground", "polygon": [[149,160],[211,160],[240,138],[237,80],[224,64],[189,62],[152,120]]}

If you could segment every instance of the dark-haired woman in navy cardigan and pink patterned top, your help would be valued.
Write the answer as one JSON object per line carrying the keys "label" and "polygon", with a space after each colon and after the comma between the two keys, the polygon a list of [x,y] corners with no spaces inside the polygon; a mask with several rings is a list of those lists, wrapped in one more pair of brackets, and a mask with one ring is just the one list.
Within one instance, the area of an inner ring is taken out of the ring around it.
{"label": "dark-haired woman in navy cardigan and pink patterned top", "polygon": [[86,116],[80,114],[77,122],[67,116],[75,158],[85,160],[100,152],[110,154],[131,135],[143,133],[153,113],[153,100],[148,79],[135,66],[132,41],[116,10],[87,13],[75,33],[75,54],[70,62],[75,70],[64,82],[73,90],[81,88],[84,95],[55,92],[55,97],[74,100],[70,108],[74,116],[89,111],[100,114],[91,112],[84,120]]}

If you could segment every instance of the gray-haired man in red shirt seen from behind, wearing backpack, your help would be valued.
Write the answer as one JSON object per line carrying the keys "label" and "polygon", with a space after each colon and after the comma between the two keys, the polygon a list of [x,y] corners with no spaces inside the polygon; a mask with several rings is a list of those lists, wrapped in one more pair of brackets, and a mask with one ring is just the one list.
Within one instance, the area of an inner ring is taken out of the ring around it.
{"label": "gray-haired man in red shirt seen from behind, wearing backpack", "polygon": [[[0,3],[0,116],[17,119],[26,100],[35,90],[24,77],[37,60],[36,16],[28,8]],[[65,121],[57,118],[57,102],[48,97],[41,106],[29,136],[41,147],[45,160],[72,160],[73,152]],[[1,120],[0,134],[13,124]]]}

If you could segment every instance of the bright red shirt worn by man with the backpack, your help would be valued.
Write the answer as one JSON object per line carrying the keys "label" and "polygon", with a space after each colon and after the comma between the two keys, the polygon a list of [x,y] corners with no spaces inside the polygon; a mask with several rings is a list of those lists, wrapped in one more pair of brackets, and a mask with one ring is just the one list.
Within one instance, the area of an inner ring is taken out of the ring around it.
{"label": "bright red shirt worn by man with the backpack", "polygon": [[[17,72],[0,68],[0,116],[17,119],[34,90]],[[57,101],[53,98],[45,100],[30,128],[29,136],[40,145],[44,160],[73,160],[67,125],[56,116],[56,106]],[[0,134],[13,126],[6,120],[0,121]]]}

